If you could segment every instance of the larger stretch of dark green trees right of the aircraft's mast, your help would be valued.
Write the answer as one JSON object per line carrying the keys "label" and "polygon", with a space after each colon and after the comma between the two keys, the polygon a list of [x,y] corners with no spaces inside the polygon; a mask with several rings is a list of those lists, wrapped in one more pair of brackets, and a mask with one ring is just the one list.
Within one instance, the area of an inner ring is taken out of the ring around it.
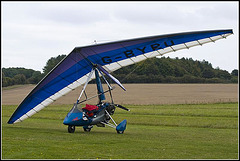
{"label": "larger stretch of dark green trees right of the aircraft's mast", "polygon": [[[129,76],[127,75],[134,71]],[[238,83],[238,70],[214,69],[208,61],[192,58],[151,58],[121,68],[113,75],[122,83]]]}

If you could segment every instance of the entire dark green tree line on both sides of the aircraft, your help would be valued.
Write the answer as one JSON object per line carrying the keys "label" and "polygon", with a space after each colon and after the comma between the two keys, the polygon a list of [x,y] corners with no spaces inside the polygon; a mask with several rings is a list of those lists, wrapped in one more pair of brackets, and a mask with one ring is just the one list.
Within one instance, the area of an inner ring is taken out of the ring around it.
{"label": "entire dark green tree line on both sides of the aircraft", "polygon": [[[65,56],[51,57],[43,67],[43,73],[25,68],[2,68],[2,86],[37,84]],[[229,73],[214,69],[208,61],[194,61],[192,58],[151,58],[112,74],[122,83],[238,83],[237,69]]]}

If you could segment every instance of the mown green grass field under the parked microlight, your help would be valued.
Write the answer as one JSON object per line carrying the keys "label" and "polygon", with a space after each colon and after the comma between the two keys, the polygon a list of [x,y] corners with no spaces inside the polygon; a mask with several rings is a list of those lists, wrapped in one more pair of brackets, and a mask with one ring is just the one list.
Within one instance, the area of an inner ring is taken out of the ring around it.
{"label": "mown green grass field under the parked microlight", "polygon": [[238,103],[125,105],[110,127],[68,133],[72,105],[48,106],[21,123],[6,122],[16,106],[2,106],[2,159],[238,159]]}

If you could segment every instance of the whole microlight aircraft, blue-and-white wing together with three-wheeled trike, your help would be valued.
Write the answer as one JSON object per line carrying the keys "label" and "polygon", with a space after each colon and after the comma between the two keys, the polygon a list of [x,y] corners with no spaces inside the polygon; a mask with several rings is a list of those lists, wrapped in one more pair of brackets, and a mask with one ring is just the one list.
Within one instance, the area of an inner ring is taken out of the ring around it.
{"label": "whole microlight aircraft, blue-and-white wing together with three-wheeled trike", "polygon": [[[26,96],[17,107],[8,123],[22,122],[24,119],[38,113],[41,109],[53,103],[55,100],[68,92],[83,86],[79,98],[73,108],[65,117],[63,124],[68,125],[68,132],[75,131],[75,126],[83,126],[85,131],[90,131],[93,125],[108,125],[123,133],[127,121],[120,124],[112,119],[115,107],[128,110],[127,108],[111,102],[104,102],[105,93],[114,89],[104,75],[111,78],[122,89],[123,85],[110,73],[124,66],[138,63],[148,58],[162,56],[166,53],[176,52],[181,49],[189,49],[193,46],[202,46],[209,42],[225,39],[233,34],[231,29],[182,32],[166,35],[148,36],[129,40],[94,44],[76,47],[61,60]],[[102,89],[100,77],[103,77],[108,85],[108,90]],[[97,95],[99,102],[96,105],[79,105],[81,96],[84,94],[87,101],[85,88],[88,82],[96,78]],[[112,99],[112,95],[111,95]],[[110,124],[110,120],[114,124]]]}

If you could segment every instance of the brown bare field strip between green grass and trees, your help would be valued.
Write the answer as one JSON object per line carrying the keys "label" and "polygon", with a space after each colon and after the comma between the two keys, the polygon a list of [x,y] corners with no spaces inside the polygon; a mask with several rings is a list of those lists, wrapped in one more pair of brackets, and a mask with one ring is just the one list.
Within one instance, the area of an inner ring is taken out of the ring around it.
{"label": "brown bare field strip between green grass and trees", "polygon": [[[117,85],[113,90],[115,103],[147,105],[147,104],[198,104],[217,102],[238,102],[238,84],[124,84],[127,91]],[[2,104],[17,105],[35,85],[3,88]],[[106,86],[104,86],[106,89]],[[79,97],[82,87],[59,98],[57,104],[73,104]],[[96,85],[87,86],[87,94],[96,94]],[[109,98],[108,94],[106,96]],[[90,100],[95,104],[97,99]]]}

